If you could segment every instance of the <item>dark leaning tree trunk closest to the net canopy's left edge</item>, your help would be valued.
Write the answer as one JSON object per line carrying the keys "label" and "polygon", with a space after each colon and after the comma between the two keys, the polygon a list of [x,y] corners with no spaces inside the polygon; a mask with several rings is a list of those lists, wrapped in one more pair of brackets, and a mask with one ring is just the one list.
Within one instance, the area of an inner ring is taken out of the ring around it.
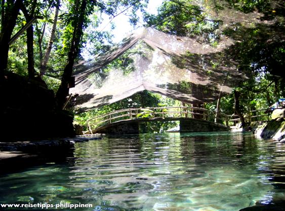
{"label": "dark leaning tree trunk closest to the net canopy's left edge", "polygon": [[83,34],[83,27],[84,27],[84,18],[85,18],[85,12],[86,12],[86,6],[87,6],[87,0],[82,0],[82,3],[80,5],[79,15],[78,18],[73,22],[74,23],[74,31],[72,35],[72,41],[70,50],[68,52],[68,61],[64,68],[63,75],[61,78],[61,84],[59,86],[59,89],[56,93],[58,108],[62,109],[66,97],[69,92],[68,83],[72,76],[73,71],[73,64],[74,60],[77,57],[79,53],[79,45],[80,45],[80,39]]}

